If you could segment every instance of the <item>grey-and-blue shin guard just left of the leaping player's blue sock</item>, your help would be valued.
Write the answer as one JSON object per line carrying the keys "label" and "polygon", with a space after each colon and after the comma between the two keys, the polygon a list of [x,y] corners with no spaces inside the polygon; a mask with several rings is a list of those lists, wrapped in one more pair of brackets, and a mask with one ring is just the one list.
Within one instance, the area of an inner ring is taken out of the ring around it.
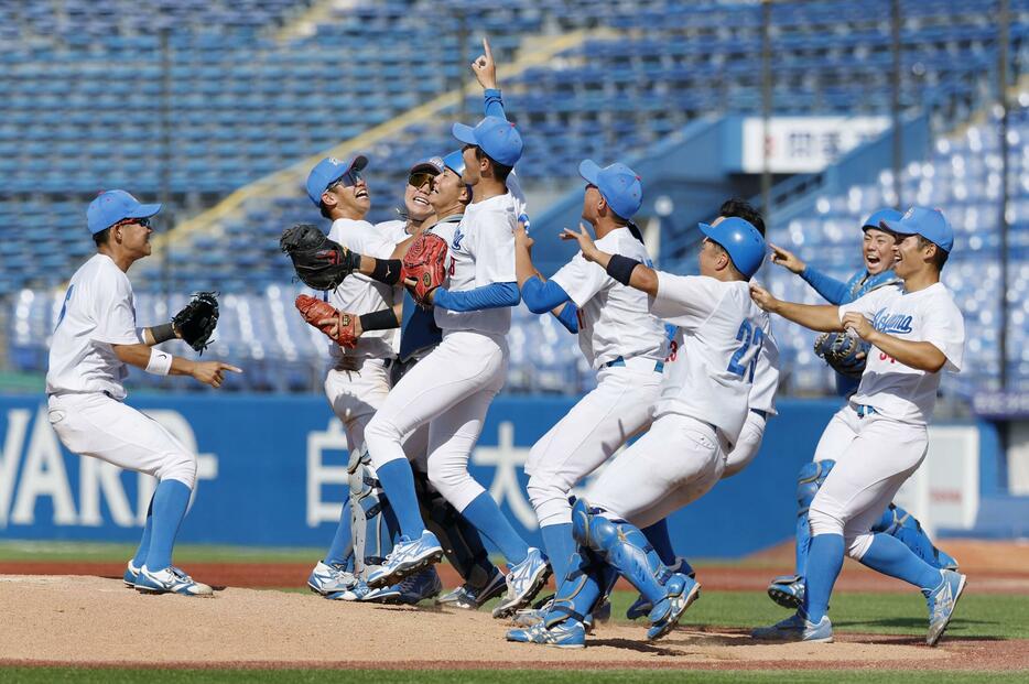
{"label": "grey-and-blue shin guard just left of the leaping player's blue sock", "polygon": [[366,448],[350,452],[350,520],[354,574],[365,578],[369,566],[381,565],[393,549],[400,525],[371,467]]}

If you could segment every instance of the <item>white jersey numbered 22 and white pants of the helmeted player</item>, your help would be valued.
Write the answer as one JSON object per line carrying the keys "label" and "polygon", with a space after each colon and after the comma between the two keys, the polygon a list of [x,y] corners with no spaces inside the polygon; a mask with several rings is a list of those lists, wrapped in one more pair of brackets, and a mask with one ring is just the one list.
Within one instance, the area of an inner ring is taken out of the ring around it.
{"label": "white jersey numbered 22 and white pants of the helmeted player", "polygon": [[588,497],[639,528],[696,500],[722,477],[770,330],[744,281],[659,271],[650,312],[680,326],[682,346],[669,359],[650,431],[615,458]]}

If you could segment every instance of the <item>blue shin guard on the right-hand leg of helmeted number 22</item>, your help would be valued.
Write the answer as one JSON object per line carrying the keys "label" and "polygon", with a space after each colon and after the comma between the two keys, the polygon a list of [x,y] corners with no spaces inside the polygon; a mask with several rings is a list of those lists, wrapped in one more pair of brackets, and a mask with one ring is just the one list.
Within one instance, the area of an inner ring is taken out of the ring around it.
{"label": "blue shin guard on the right-hand leg of helmeted number 22", "polygon": [[624,520],[615,521],[592,509],[585,499],[572,506],[572,535],[594,551],[629,580],[637,590],[657,605],[667,598],[664,583],[672,576],[639,528]]}

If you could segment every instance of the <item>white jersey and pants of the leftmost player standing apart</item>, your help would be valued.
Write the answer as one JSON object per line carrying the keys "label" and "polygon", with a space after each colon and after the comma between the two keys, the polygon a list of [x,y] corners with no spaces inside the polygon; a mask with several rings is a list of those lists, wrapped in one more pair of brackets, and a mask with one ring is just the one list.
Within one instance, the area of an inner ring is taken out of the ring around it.
{"label": "white jersey and pants of the leftmost player standing apart", "polygon": [[96,254],[68,284],[50,348],[50,422],[69,450],[193,488],[196,455],[122,401],[126,365],[112,345],[142,344],[129,278]]}

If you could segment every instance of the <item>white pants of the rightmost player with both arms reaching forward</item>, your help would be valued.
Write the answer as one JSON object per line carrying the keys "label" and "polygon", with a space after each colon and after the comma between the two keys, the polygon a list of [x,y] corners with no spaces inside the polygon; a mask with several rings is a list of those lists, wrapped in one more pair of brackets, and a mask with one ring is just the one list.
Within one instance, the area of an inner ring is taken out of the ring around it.
{"label": "white pants of the rightmost player with both arms reaching forward", "polygon": [[925,425],[878,413],[859,417],[848,404],[833,416],[825,435],[815,459],[832,458],[836,465],[811,502],[811,535],[842,534],[847,555],[859,561],[875,536],[871,526],[925,458],[929,434]]}

